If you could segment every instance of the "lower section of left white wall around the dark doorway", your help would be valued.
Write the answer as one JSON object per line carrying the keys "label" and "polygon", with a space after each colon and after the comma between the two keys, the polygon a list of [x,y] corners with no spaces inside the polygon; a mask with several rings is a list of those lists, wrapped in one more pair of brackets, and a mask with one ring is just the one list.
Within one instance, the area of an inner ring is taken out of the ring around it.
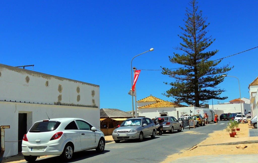
{"label": "lower section of left white wall around the dark doorway", "polygon": [[[5,129],[5,153],[4,157],[18,154],[18,114],[27,113],[27,131],[34,122],[49,118],[75,117],[82,118],[100,129],[99,108],[42,105],[32,103],[17,103],[0,101],[0,124],[10,125],[10,129]],[[47,115],[46,115],[47,113]],[[94,115],[94,116],[93,116]],[[97,116],[98,115],[98,116]],[[96,118],[98,117],[98,118]],[[15,142],[10,142],[15,141]]]}

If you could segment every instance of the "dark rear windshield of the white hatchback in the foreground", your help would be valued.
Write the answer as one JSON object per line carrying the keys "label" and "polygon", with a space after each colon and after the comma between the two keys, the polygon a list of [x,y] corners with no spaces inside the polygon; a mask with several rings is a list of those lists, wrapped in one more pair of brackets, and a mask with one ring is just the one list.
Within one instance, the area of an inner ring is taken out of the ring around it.
{"label": "dark rear windshield of the white hatchback in the foreground", "polygon": [[60,122],[58,121],[42,121],[34,123],[29,132],[49,132],[58,128]]}

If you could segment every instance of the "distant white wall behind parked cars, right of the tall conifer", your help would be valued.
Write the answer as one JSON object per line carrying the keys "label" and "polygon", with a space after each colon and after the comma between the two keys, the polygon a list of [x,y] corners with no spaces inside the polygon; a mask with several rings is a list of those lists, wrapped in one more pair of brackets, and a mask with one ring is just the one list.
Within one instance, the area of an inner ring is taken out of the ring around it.
{"label": "distant white wall behind parked cars, right of the tall conifer", "polygon": [[[250,104],[248,104],[248,103],[241,103],[241,104],[242,104],[243,114],[246,114],[249,110],[251,110]],[[209,108],[212,109],[212,105],[210,105]],[[213,109],[214,110],[223,110],[224,113],[238,113],[238,112],[241,112],[240,103],[213,105]]]}

